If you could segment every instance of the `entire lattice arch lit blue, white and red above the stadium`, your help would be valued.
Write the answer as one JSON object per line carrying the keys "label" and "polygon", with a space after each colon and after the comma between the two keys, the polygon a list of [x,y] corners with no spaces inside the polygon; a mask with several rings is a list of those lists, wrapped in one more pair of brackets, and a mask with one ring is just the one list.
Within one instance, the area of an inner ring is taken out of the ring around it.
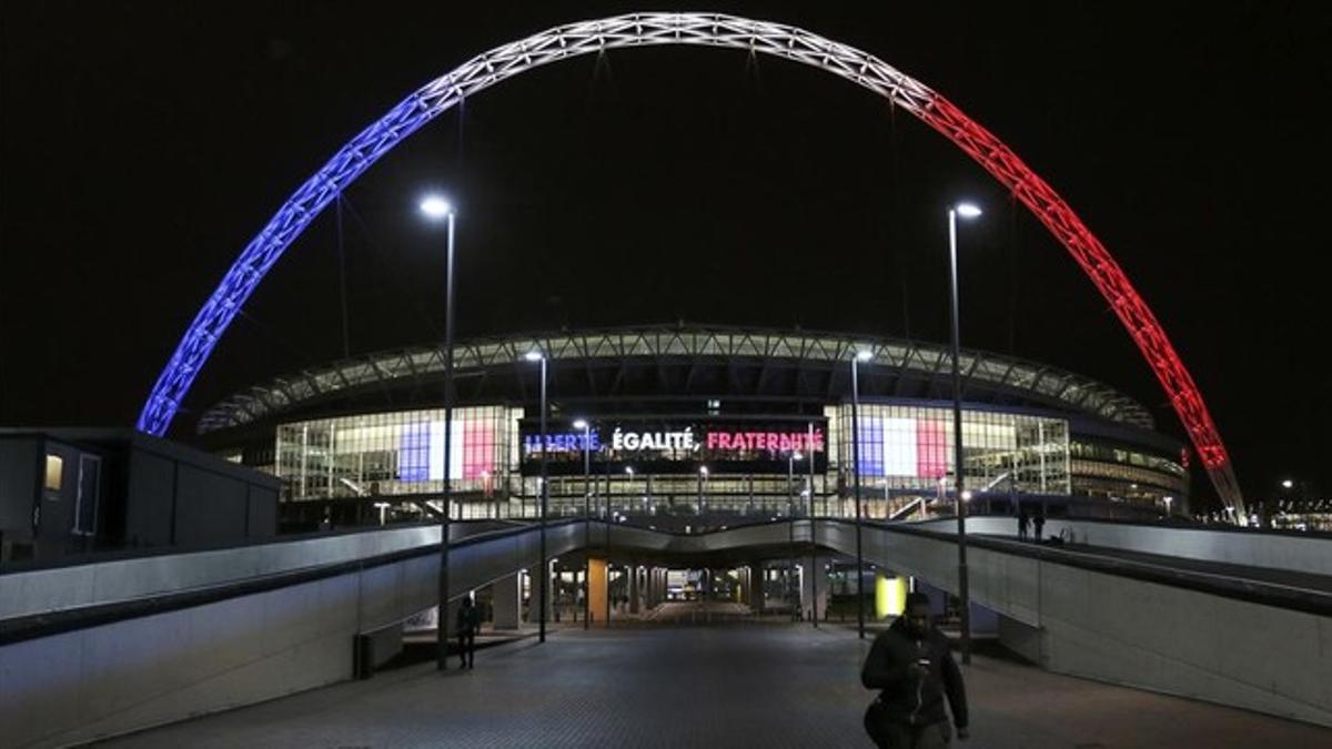
{"label": "entire lattice arch lit blue, white and red above the stadium", "polygon": [[605,49],[663,44],[742,49],[813,65],[888,99],[975,159],[1035,213],[1100,289],[1169,394],[1217,493],[1243,518],[1229,456],[1193,378],[1119,264],[1044,180],[947,99],[878,57],[799,28],[718,13],[631,13],[555,27],[478,55],[408,96],[342,147],[250,240],[157,378],[139,429],[159,436],[166,430],[217,339],[282,251],[338,192],[402,139],[468,96],[539,65]]}

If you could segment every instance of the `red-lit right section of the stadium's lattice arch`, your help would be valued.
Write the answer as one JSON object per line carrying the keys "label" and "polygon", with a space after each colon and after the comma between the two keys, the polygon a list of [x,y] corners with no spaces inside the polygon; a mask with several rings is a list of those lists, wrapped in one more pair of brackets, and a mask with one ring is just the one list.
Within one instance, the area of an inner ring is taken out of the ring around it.
{"label": "red-lit right section of the stadium's lattice arch", "polygon": [[984,129],[974,120],[962,113],[947,99],[935,95],[935,99],[920,112],[920,119],[930,127],[943,133],[958,148],[967,152],[987,172],[1031,209],[1050,233],[1059,240],[1074,256],[1078,265],[1096,284],[1102,296],[1110,303],[1115,315],[1124,324],[1134,343],[1166,393],[1171,405],[1184,422],[1197,456],[1211,473],[1217,492],[1223,498],[1233,492],[1239,497],[1239,486],[1231,470],[1231,460],[1221,444],[1221,437],[1212,422],[1212,416],[1203,405],[1203,396],[1193,384],[1193,378],[1184,369],[1184,363],[1175,353],[1175,347],[1166,337],[1156,316],[1147,308],[1138,292],[1134,291],[1128,277],[1110,256],[1100,241],[1087,229],[1078,216],[1068,208],[1064,199],[1059,197],[1044,180],[1036,176],[1020,159],[990,131]]}

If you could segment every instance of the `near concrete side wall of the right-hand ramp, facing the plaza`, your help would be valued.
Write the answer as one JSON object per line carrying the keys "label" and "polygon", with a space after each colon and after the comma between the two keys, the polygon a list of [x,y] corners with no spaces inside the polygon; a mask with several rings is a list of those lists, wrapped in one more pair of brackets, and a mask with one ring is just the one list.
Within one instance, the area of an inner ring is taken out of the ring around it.
{"label": "near concrete side wall of the right-hand ramp, facing the plaza", "polygon": [[[854,553],[848,524],[821,541]],[[947,540],[866,528],[864,556],[956,592]],[[1332,618],[971,548],[972,601],[1059,672],[1332,726]]]}

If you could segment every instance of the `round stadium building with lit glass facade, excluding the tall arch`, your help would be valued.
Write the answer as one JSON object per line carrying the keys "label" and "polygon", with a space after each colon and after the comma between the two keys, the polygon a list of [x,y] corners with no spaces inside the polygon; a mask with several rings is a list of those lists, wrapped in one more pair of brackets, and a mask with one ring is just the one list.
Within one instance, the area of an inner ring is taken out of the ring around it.
{"label": "round stadium building with lit glass facade, excluding the tall arch", "polygon": [[[452,517],[534,517],[545,371],[553,517],[586,512],[686,530],[745,517],[854,517],[856,480],[868,518],[952,513],[952,359],[943,345],[657,327],[472,340],[453,356],[448,460],[441,347],[250,386],[202,413],[198,441],[281,478],[289,526],[418,520],[440,509],[446,470]],[[1010,356],[963,351],[959,367],[971,512],[1187,510],[1184,445],[1135,400]]]}

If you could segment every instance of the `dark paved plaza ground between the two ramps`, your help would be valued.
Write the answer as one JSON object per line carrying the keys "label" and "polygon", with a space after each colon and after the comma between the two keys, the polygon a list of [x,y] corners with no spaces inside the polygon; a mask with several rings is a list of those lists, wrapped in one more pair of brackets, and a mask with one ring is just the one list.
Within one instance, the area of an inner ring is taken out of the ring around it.
{"label": "dark paved plaza ground between the two ramps", "polygon": [[[473,672],[384,672],[124,737],[109,746],[871,746],[868,641],[795,624],[558,629]],[[1332,730],[978,656],[982,748],[1328,746]]]}

